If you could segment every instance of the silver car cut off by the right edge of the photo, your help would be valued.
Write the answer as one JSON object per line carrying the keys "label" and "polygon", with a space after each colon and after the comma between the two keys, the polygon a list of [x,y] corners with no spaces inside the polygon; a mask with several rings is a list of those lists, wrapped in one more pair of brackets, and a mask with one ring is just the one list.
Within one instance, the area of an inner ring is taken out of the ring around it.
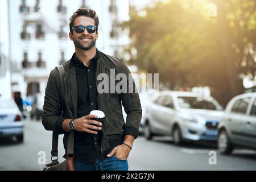
{"label": "silver car cut off by the right edge of the photo", "polygon": [[218,150],[231,154],[234,147],[256,149],[256,93],[232,98],[218,126]]}

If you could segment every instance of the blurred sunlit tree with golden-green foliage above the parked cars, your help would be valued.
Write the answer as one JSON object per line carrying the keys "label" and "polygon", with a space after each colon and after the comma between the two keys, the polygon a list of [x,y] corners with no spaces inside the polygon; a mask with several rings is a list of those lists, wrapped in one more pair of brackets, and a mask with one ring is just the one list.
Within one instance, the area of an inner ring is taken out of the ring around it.
{"label": "blurred sunlit tree with golden-green foliage above the parked cars", "polygon": [[131,61],[170,89],[209,85],[225,105],[243,92],[240,73],[255,72],[255,10],[250,0],[172,0],[133,11],[123,24],[137,49]]}

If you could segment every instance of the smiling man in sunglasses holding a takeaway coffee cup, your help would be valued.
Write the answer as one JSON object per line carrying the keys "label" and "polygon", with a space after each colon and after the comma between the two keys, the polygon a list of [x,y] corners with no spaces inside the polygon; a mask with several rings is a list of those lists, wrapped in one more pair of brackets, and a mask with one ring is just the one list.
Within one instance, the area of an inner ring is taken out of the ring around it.
{"label": "smiling man in sunglasses holding a takeaway coffee cup", "polygon": [[[110,77],[114,70],[115,74],[124,73],[130,80],[130,71],[123,60],[97,50],[99,20],[94,10],[78,9],[69,20],[69,38],[75,44],[75,53],[63,64],[64,98],[59,72],[55,68],[47,82],[43,125],[46,130],[64,134],[66,154],[68,134],[74,131],[76,170],[128,170],[127,157],[138,137],[142,116],[134,81],[129,85],[129,88],[134,86],[132,93],[99,92],[101,74]],[[118,81],[114,80],[114,83],[116,85]],[[121,103],[127,114],[126,122]],[[102,124],[93,119],[97,115],[89,114],[92,110],[105,113]]]}

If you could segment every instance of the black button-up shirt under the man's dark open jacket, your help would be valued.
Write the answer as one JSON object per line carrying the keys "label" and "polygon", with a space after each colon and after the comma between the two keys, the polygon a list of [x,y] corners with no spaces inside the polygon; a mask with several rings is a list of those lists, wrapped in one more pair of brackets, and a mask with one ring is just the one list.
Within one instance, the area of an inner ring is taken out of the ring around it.
{"label": "black button-up shirt under the man's dark open jacket", "polygon": [[[77,81],[77,118],[90,114],[90,111],[98,109],[96,67],[101,53],[97,50],[96,55],[86,67],[74,54],[72,59],[76,69]],[[75,130],[74,130],[75,131]],[[106,158],[101,154],[101,131],[97,135],[75,131],[74,154],[75,160],[82,163],[95,163],[96,158],[100,161]]]}

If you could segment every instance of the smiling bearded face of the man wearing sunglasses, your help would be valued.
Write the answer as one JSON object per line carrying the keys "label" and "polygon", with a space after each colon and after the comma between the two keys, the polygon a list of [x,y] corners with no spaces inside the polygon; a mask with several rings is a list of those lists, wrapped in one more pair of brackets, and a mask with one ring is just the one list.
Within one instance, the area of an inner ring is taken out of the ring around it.
{"label": "smiling bearded face of the man wearing sunglasses", "polygon": [[[74,26],[96,26],[94,20],[88,16],[79,16],[75,19]],[[98,39],[98,32],[94,32],[89,34],[88,31],[84,30],[84,32],[77,33],[75,28],[73,28],[72,33],[69,32],[69,38],[73,40],[75,46],[82,50],[88,51],[90,48],[94,47],[96,44],[96,40]]]}

